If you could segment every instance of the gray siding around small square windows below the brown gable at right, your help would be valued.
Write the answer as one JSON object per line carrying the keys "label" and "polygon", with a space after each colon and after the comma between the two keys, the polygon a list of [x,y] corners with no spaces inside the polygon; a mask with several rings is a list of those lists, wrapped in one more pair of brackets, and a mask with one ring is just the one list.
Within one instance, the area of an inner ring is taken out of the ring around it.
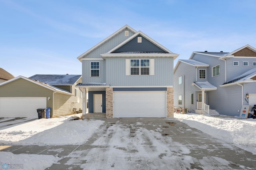
{"label": "gray siding around small square windows below the brown gable at right", "polygon": [[[233,61],[238,61],[239,66],[233,66]],[[248,61],[248,66],[243,66],[243,61]],[[241,75],[242,73],[252,69],[256,68],[255,66],[252,66],[252,62],[256,62],[255,58],[230,58],[227,59],[227,81],[230,81],[234,79],[235,77]]]}

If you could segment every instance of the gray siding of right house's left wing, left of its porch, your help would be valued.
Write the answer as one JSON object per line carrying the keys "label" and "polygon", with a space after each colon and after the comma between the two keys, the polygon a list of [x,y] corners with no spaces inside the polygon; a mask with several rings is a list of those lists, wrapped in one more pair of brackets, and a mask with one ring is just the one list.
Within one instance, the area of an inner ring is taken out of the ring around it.
{"label": "gray siding of right house's left wing, left of its porch", "polygon": [[[199,67],[198,67],[199,68]],[[178,78],[182,76],[182,84],[178,84]],[[188,108],[188,111],[196,110],[198,99],[198,87],[192,86],[196,81],[196,67],[180,62],[174,72],[174,106]],[[194,104],[191,105],[190,94],[194,93]],[[182,105],[178,105],[178,96],[182,95]],[[184,96],[185,95],[185,96]]]}

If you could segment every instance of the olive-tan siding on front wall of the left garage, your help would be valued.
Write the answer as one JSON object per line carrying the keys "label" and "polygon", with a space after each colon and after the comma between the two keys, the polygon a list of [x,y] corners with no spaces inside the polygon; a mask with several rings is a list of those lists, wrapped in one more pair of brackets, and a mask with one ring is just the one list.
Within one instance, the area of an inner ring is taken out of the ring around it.
{"label": "olive-tan siding on front wall of the left garage", "polygon": [[0,97],[50,97],[50,100],[46,100],[47,107],[52,107],[52,93],[50,89],[25,79],[17,79],[0,86]]}

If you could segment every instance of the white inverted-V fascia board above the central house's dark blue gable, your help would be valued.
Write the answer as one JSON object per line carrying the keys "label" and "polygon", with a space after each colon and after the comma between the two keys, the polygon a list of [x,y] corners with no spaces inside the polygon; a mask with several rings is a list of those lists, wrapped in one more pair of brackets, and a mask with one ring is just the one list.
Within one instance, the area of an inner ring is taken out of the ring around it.
{"label": "white inverted-V fascia board above the central house's dark blue gable", "polygon": [[[110,51],[108,51],[108,53],[112,53],[113,51],[115,51],[116,49],[120,48],[122,45],[126,44],[127,42],[129,42],[130,40],[132,40],[133,38],[135,38],[138,35],[143,36],[144,38],[146,38],[148,41],[154,43],[156,46],[158,46],[159,48],[163,49],[164,51],[168,52],[168,53],[173,53],[172,51],[170,51],[169,49],[167,49],[166,47],[164,47],[163,45],[161,45],[160,43],[156,42],[155,40],[153,40],[152,38],[150,38],[149,36],[147,36],[146,34],[144,34],[141,31],[136,32],[136,34],[134,34],[133,36],[131,36],[130,38],[128,38],[127,40],[125,40],[124,42],[120,43],[119,45],[117,45],[116,47],[114,47],[113,49],[111,49]],[[179,54],[176,54],[179,55]]]}

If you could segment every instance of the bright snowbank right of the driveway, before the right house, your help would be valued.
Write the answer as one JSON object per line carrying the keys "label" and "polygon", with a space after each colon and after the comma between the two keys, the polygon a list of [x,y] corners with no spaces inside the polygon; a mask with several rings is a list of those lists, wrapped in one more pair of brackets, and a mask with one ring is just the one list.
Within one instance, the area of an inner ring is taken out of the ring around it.
{"label": "bright snowbank right of the driveway, before the right house", "polygon": [[174,118],[214,138],[256,154],[256,119],[174,113]]}

